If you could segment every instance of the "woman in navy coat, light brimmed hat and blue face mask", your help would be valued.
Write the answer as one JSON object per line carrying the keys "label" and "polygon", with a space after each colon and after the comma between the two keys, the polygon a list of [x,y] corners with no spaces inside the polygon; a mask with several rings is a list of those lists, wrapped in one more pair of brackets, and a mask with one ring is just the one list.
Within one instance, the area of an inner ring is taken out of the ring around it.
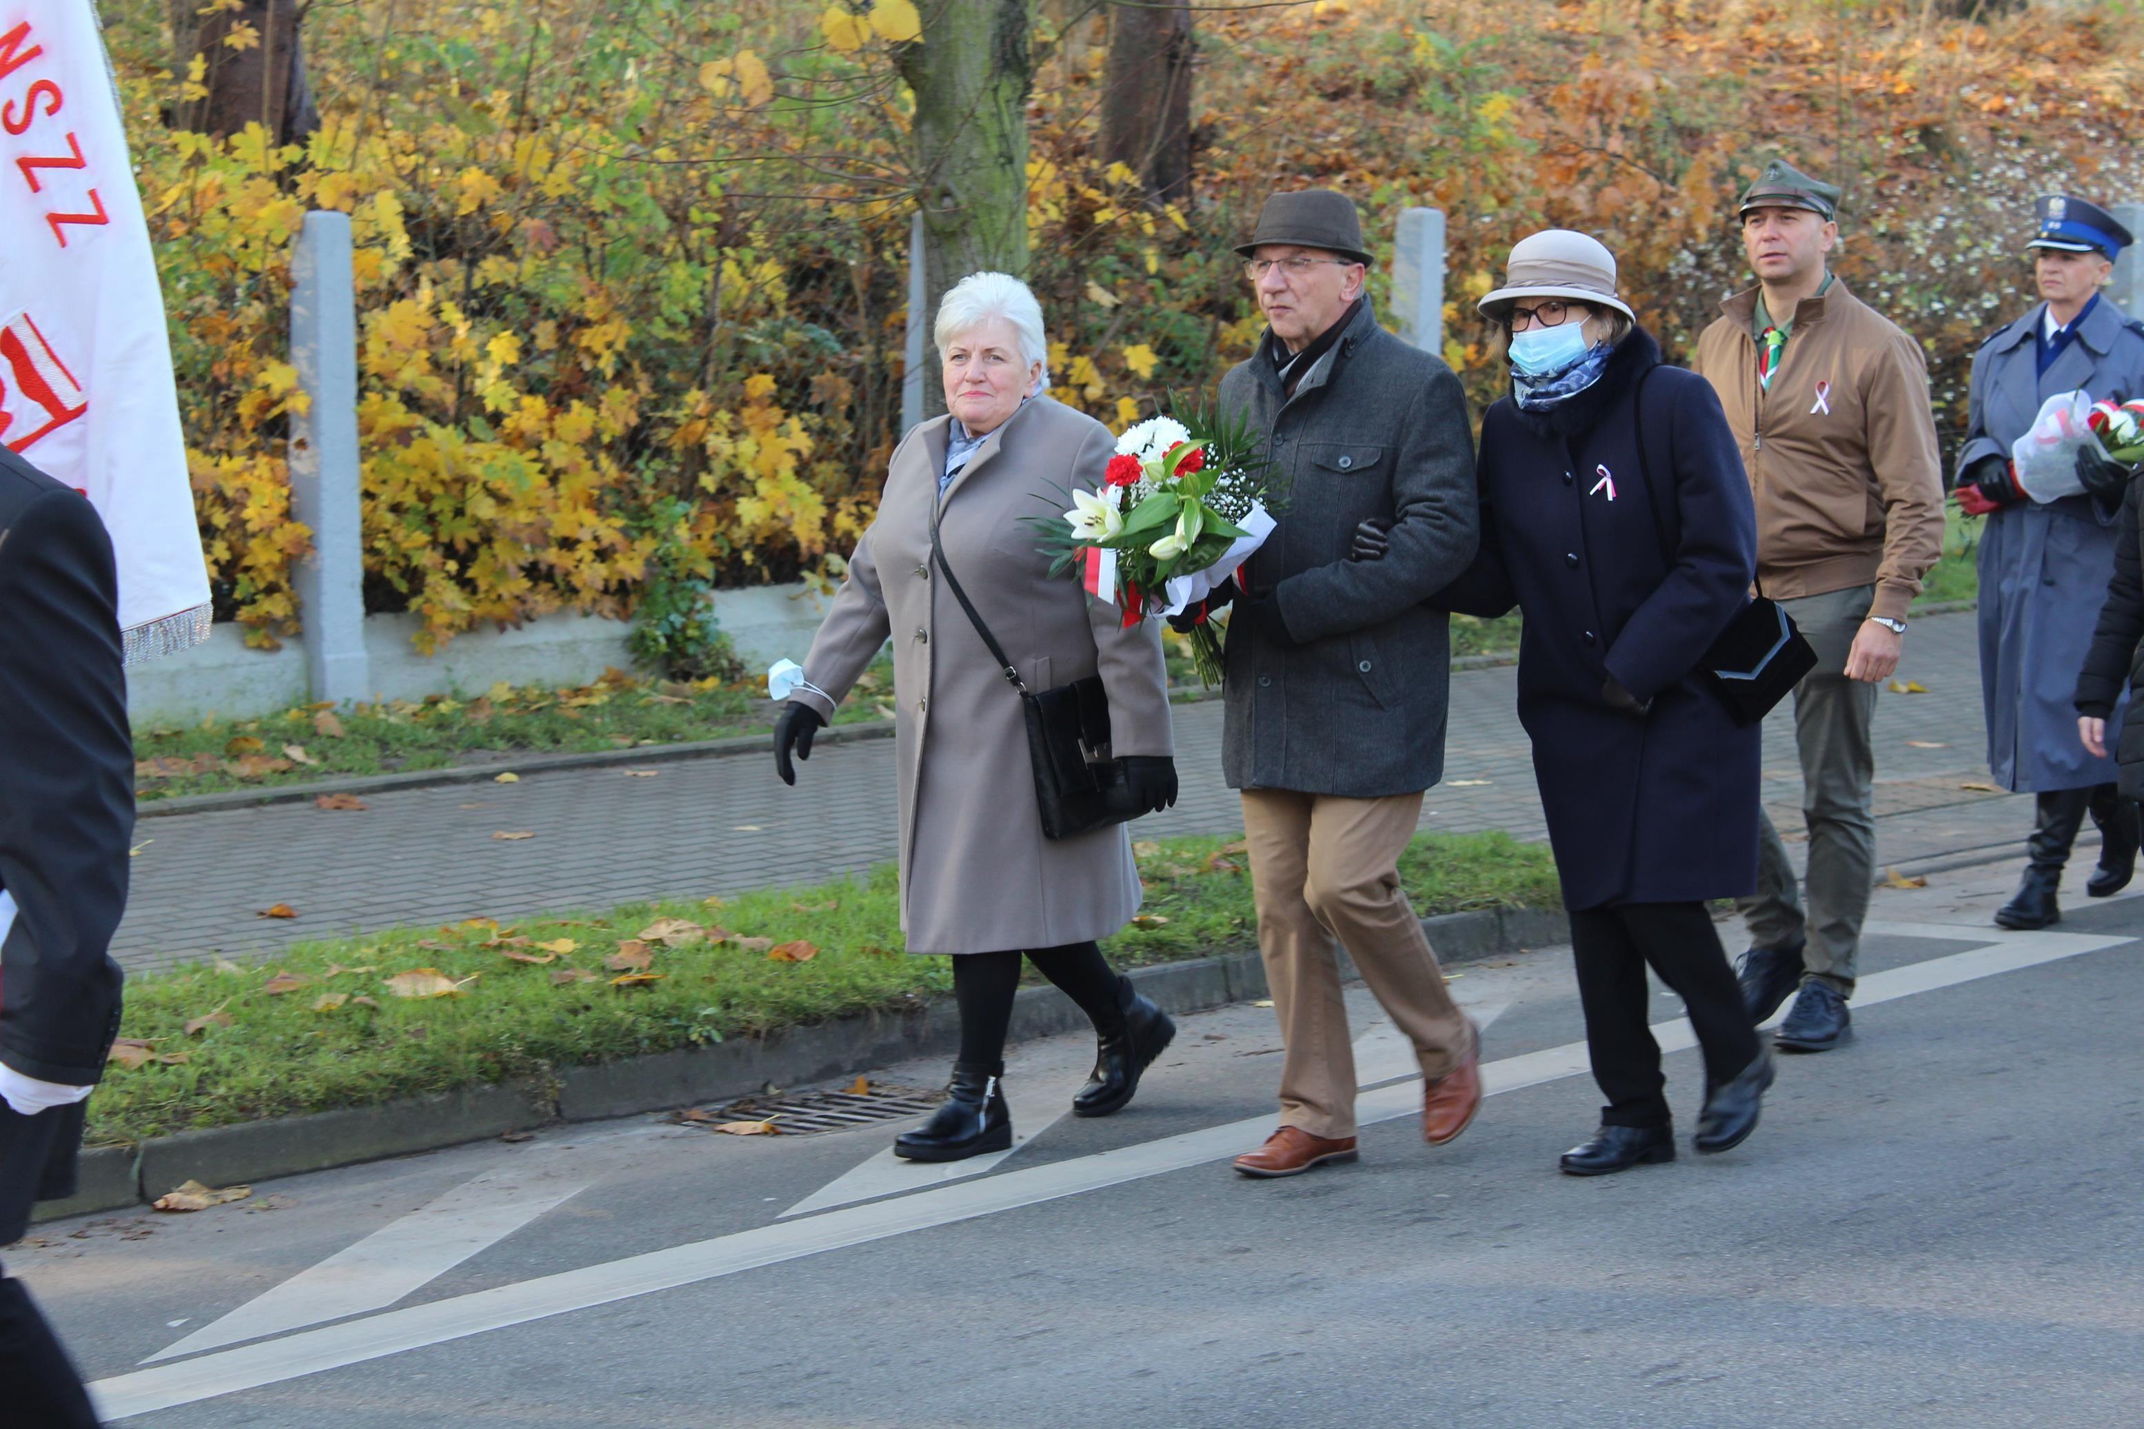
{"label": "woman in navy coat, light brimmed hat and blue face mask", "polygon": [[1518,718],[1608,1097],[1563,1170],[1674,1159],[1647,964],[1704,1050],[1696,1148],[1726,1150],[1756,1127],[1771,1054],[1704,902],[1756,887],[1758,731],[1696,666],[1747,602],[1750,480],[1713,390],[1662,364],[1593,238],[1527,238],[1482,311],[1509,334],[1512,396],[1482,422],[1482,555],[1434,604],[1524,615]]}

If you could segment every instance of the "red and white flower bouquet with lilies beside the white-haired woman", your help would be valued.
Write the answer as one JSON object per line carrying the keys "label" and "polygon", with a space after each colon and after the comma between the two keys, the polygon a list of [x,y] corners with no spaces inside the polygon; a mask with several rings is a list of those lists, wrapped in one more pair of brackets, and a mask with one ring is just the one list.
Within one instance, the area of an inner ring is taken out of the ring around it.
{"label": "red and white flower bouquet with lilies beside the white-haired woman", "polygon": [[[1237,572],[1274,531],[1282,497],[1246,420],[1209,411],[1151,418],[1117,439],[1098,491],[1072,491],[1063,518],[1038,518],[1053,574],[1076,570],[1134,626],[1177,615]],[[1198,679],[1222,679],[1220,636],[1192,632]]]}

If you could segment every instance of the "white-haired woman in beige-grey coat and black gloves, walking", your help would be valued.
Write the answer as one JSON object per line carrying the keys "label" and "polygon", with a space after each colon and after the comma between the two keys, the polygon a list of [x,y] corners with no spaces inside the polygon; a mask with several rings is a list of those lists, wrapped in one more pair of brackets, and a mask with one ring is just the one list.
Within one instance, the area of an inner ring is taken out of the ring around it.
{"label": "white-haired woman in beige-grey coat and black gloves, walking", "polygon": [[894,1153],[958,1161],[1012,1146],[999,1080],[1021,958],[1093,1018],[1100,1052],[1074,1097],[1108,1116],[1175,1037],[1166,1013],[1102,960],[1098,938],[1138,911],[1123,825],[1042,836],[1018,692],[946,581],[946,566],[1029,690],[1100,675],[1115,758],[1141,808],[1175,803],[1160,626],[1123,626],[1115,606],[1051,574],[1025,518],[1096,491],[1115,450],[1089,416],[1042,396],[1042,309],[1018,279],[978,272],[946,294],[935,339],[948,413],[915,426],[885,473],[879,514],[804,660],[804,683],[774,731],[774,763],[810,756],[813,731],[888,636],[894,641],[894,748],[900,773],[900,930],[911,953],[952,953],[961,1058],[948,1101]]}

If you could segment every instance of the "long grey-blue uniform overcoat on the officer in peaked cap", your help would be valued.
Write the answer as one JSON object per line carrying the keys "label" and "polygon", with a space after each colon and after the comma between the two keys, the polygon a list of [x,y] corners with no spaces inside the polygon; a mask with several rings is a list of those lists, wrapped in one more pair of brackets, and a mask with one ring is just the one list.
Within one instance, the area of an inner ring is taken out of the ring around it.
{"label": "long grey-blue uniform overcoat on the officer in peaked cap", "polygon": [[[2093,401],[2144,396],[2144,324],[2101,294],[2075,341],[2037,373],[2035,328],[2048,304],[1981,343],[1957,471],[2009,456],[2043,401],[2090,392]],[[1985,516],[1981,533],[1981,701],[1987,771],[2005,788],[2090,788],[2114,782],[2114,761],[2078,743],[2078,671],[2114,576],[2114,516],[2090,497],[2024,501]],[[2123,711],[2110,720],[2118,735]]]}

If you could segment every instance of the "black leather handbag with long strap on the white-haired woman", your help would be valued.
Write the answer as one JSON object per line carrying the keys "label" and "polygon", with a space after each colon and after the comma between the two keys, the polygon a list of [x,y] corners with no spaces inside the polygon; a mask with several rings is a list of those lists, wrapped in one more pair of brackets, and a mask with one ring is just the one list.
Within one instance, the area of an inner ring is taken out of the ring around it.
{"label": "black leather handbag with long strap on the white-haired woman", "polygon": [[1027,718],[1027,758],[1036,769],[1036,806],[1042,810],[1042,836],[1076,838],[1145,814],[1147,810],[1132,797],[1123,761],[1111,758],[1108,752],[1108,694],[1102,690],[1102,677],[1089,675],[1040,694],[1029,690],[1018,666],[1006,658],[1006,647],[982,623],[982,615],[976,613],[961,581],[946,563],[935,514],[930,516],[930,559],[937,561],[939,574],[946,576],[946,589],[961,602],[967,621],[991,649],[999,673],[1021,696],[1021,711]]}

